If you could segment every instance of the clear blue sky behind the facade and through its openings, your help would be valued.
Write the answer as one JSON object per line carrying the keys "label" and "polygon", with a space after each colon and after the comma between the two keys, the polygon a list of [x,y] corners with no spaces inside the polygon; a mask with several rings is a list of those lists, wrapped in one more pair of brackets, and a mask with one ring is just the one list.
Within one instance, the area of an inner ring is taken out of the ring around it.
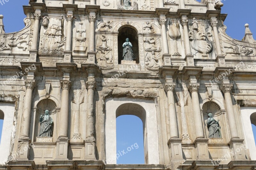
{"label": "clear blue sky behind the facade and through its openings", "polygon": [[[241,40],[244,36],[244,24],[248,23],[252,33],[256,34],[255,0],[222,0],[224,7],[221,13],[228,13],[224,25],[228,27],[227,33],[234,39]],[[9,0],[0,4],[0,14],[4,15],[4,28],[6,33],[16,32],[24,27],[22,5],[28,5],[28,0]],[[256,39],[256,35],[254,35]],[[0,127],[2,127],[0,120]],[[123,115],[116,119],[117,152],[127,150],[131,145],[137,144],[138,149],[132,149],[117,160],[118,164],[143,164],[143,129],[142,122],[136,116]],[[1,133],[2,129],[0,129]],[[254,137],[256,127],[253,125]],[[1,134],[0,134],[1,137]],[[166,141],[167,142],[167,141]]]}

